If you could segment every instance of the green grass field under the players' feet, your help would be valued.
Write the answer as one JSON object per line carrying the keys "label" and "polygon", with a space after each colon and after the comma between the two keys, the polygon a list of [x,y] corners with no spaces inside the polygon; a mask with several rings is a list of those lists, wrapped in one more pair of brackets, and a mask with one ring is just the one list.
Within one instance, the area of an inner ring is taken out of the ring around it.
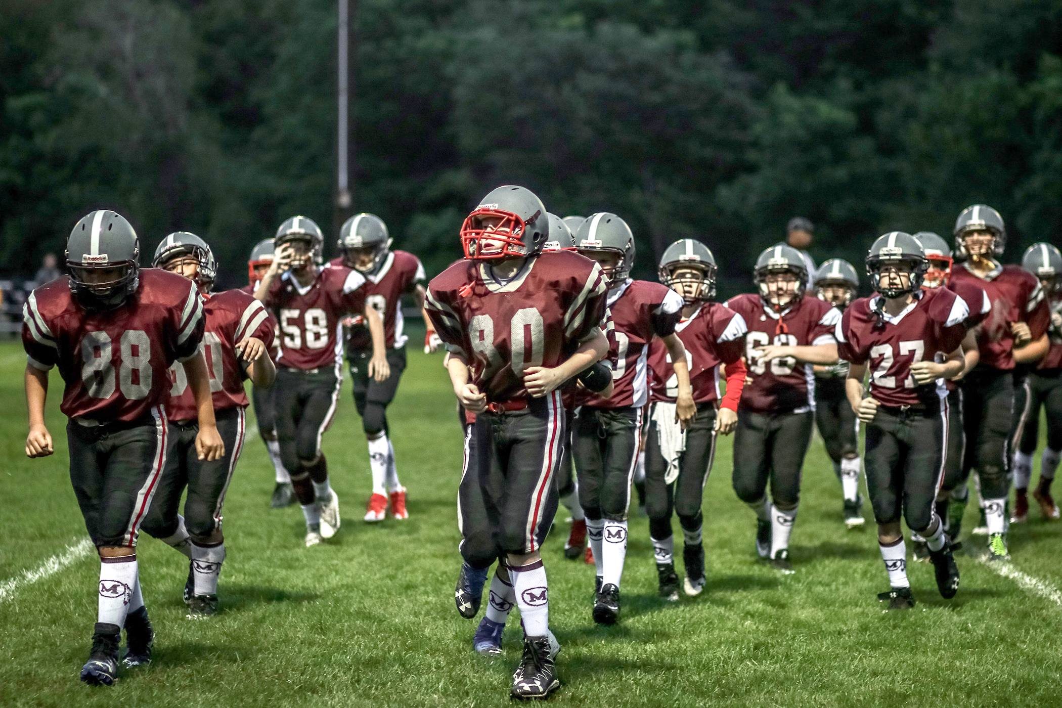
{"label": "green grass field under the players' feet", "polygon": [[[438,357],[412,347],[390,410],[411,518],[360,520],[370,477],[347,382],[324,443],[345,512],[338,537],[303,547],[302,513],[269,508],[273,470],[261,443],[249,438],[225,504],[223,611],[210,621],[186,620],[187,560],[141,537],[155,660],[120,674],[110,689],[78,680],[95,621],[99,564],[83,543],[67,476],[61,382],[53,374],[49,426],[57,454],[27,460],[23,362],[17,344],[0,345],[0,645],[6,661],[0,705],[509,703],[519,657],[517,618],[506,633],[504,659],[489,661],[470,649],[476,622],[453,607],[461,437]],[[1044,523],[1034,510],[1033,521],[1012,530],[1010,576],[960,556],[962,586],[949,602],[937,593],[931,567],[911,564],[919,604],[888,615],[875,598],[887,582],[874,534],[870,524],[844,530],[839,485],[820,441],[805,466],[793,575],[757,562],[753,515],[735,498],[730,472],[727,438],[705,491],[706,591],[678,604],[657,599],[648,524],[635,518],[623,617],[614,627],[590,620],[593,567],[564,559],[562,510],[543,553],[551,625],[563,646],[554,704],[1062,705],[1062,523]],[[971,504],[967,530],[974,512]],[[678,538],[681,558],[681,533]]]}

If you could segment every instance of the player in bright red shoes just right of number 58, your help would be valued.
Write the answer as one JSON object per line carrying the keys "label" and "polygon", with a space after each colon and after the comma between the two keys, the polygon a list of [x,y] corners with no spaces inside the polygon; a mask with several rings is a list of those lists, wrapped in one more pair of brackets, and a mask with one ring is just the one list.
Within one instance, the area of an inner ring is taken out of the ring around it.
{"label": "player in bright red shoes just right of number 58", "polygon": [[[346,361],[354,380],[354,404],[369,442],[369,467],[373,473],[373,494],[369,498],[365,521],[382,521],[390,500],[391,516],[408,519],[406,487],[398,481],[395,449],[388,426],[388,405],[398,391],[398,380],[406,370],[405,318],[402,295],[411,295],[418,310],[424,308],[424,265],[405,251],[391,249],[387,224],[379,217],[360,213],[344,222],[339,231],[339,257],[330,266],[348,267],[365,277],[365,301],[383,317],[390,375],[376,381],[369,375],[373,358],[372,338],[360,316],[350,317],[346,327]],[[427,322],[427,316],[425,316]],[[430,323],[428,329],[431,329]],[[430,343],[427,343],[430,347]]]}

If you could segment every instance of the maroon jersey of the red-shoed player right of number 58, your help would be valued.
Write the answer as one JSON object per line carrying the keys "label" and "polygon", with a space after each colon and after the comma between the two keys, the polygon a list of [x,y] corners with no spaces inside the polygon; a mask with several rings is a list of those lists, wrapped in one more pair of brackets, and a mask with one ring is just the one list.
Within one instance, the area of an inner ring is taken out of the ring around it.
{"label": "maroon jersey of the red-shoed player right of number 58", "polygon": [[[343,259],[333,258],[328,267],[346,267]],[[383,318],[383,339],[388,349],[406,346],[409,336],[405,333],[405,318],[401,314],[401,296],[412,293],[427,277],[421,259],[405,251],[392,251],[376,273],[363,273],[365,277],[365,303],[376,308]],[[373,339],[369,327],[360,315],[356,316],[347,336],[350,349],[372,349]]]}

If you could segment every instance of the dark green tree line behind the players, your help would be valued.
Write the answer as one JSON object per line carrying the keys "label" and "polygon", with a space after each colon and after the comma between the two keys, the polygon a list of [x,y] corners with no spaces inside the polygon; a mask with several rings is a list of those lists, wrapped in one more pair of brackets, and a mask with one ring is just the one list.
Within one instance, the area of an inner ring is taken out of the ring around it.
{"label": "dark green tree line behind the players", "polygon": [[[360,0],[355,208],[436,272],[478,196],[615,211],[637,274],[702,239],[746,287],[794,214],[812,255],[998,208],[1062,221],[1062,5],[1047,0]],[[240,273],[292,213],[332,227],[333,0],[6,0],[0,257],[89,209]],[[145,256],[147,258],[148,256]]]}

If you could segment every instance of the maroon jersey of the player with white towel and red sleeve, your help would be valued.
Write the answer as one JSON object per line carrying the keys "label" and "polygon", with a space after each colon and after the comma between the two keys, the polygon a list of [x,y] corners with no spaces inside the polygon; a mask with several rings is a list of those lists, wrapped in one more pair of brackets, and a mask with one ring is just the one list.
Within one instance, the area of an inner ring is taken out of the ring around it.
{"label": "maroon jersey of the player with white towel and red sleeve", "polygon": [[[705,303],[687,320],[681,320],[675,334],[686,347],[689,382],[693,402],[718,400],[719,365],[733,364],[744,356],[744,317],[719,303]],[[679,379],[671,366],[671,355],[663,340],[649,345],[649,390],[651,401],[675,402]]]}

